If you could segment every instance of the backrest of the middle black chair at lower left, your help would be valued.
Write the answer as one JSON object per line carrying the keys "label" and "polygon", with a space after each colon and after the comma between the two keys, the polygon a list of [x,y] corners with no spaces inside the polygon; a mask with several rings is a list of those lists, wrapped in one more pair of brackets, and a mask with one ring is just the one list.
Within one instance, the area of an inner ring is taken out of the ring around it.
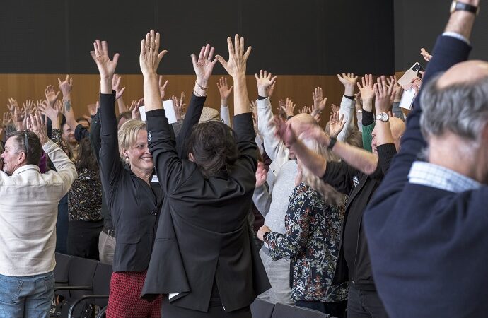
{"label": "backrest of the middle black chair at lower left", "polygon": [[[83,259],[82,257],[73,257],[71,266],[69,266],[68,283],[70,286],[93,286],[93,276],[97,268],[98,261],[95,259]],[[90,294],[86,290],[71,290],[71,298],[80,298],[83,295]]]}

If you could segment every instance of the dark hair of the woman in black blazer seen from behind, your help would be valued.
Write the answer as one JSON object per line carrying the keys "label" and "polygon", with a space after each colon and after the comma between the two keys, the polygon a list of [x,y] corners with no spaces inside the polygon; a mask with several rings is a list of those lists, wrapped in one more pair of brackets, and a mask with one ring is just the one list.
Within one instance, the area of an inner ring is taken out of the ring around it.
{"label": "dark hair of the woman in black blazer seen from behind", "polygon": [[194,126],[187,149],[206,178],[221,171],[229,172],[239,157],[234,131],[217,121]]}

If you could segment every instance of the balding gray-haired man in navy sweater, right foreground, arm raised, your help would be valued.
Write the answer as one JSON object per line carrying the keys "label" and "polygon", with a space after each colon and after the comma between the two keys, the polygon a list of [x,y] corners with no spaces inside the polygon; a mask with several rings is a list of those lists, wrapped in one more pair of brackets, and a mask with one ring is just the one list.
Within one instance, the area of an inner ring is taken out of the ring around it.
{"label": "balding gray-haired man in navy sweater, right foreground, arm raised", "polygon": [[488,63],[466,61],[478,4],[453,1],[401,151],[364,217],[393,318],[488,313]]}

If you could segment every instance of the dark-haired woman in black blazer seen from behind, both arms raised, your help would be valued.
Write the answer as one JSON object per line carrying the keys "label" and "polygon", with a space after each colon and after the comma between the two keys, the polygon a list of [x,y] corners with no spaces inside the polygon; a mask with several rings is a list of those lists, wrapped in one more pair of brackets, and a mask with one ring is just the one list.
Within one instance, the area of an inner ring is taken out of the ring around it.
{"label": "dark-haired woman in black blazer seen from behind, both arms raised", "polygon": [[[161,99],[156,69],[159,34],[141,45],[141,71],[148,122],[149,151],[156,163],[165,203],[149,264],[143,297],[164,295],[163,312],[171,317],[251,317],[250,304],[270,288],[252,242],[247,220],[255,188],[257,146],[245,86],[244,39],[228,38],[230,58],[223,64],[234,80],[235,133],[221,122],[194,127],[189,160],[175,149]],[[206,95],[214,48],[192,56],[197,73],[194,95]]]}

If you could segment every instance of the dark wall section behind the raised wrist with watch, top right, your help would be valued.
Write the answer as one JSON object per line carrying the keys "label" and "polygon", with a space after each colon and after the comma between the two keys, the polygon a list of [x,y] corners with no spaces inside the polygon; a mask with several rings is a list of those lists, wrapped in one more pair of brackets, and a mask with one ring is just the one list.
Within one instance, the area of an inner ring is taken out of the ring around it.
{"label": "dark wall section behind the raised wrist with watch, top right", "polygon": [[[424,47],[431,53],[438,35],[443,33],[449,18],[451,0],[395,0],[395,69],[408,69],[416,61],[426,62],[419,54]],[[488,10],[481,7],[476,18],[471,42],[471,59],[488,57]]]}

